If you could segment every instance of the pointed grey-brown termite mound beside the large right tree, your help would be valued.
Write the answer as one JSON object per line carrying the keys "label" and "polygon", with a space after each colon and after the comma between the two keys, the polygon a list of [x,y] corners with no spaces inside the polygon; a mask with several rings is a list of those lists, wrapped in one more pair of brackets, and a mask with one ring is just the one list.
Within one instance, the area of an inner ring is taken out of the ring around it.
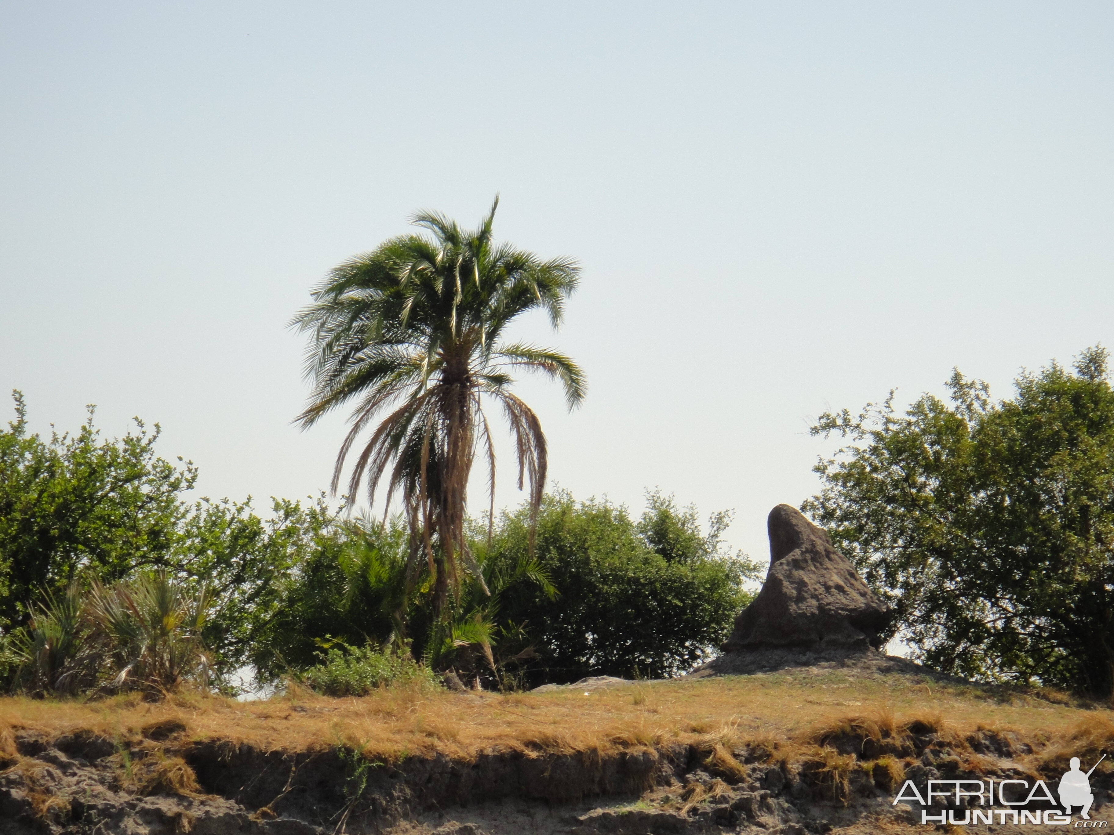
{"label": "pointed grey-brown termite mound beside the large right tree", "polygon": [[707,671],[797,666],[878,649],[892,613],[828,533],[788,504],[770,511],[766,527],[765,583],[735,618],[725,655]]}

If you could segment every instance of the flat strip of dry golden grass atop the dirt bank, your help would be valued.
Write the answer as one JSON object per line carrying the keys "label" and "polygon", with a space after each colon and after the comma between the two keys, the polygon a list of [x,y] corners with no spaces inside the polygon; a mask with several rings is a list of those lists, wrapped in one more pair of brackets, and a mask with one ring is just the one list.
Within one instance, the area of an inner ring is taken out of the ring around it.
{"label": "flat strip of dry golden grass atop the dirt bank", "polygon": [[[930,711],[925,709],[927,694]],[[684,741],[704,752],[707,766],[727,779],[743,774],[733,750],[746,752],[741,758],[747,762],[800,758],[814,746],[823,749],[824,738],[839,734],[881,740],[935,731],[961,741],[979,728],[1010,728],[1027,739],[1061,740],[1057,752],[1083,757],[1114,740],[1110,710],[1084,710],[1024,694],[1005,700],[1000,691],[841,669],[642,681],[587,695],[574,688],[515,695],[400,688],[335,699],[303,690],[248,703],[201,694],[163,703],[136,695],[99,701],[8,697],[0,698],[0,758],[10,747],[6,720],[51,736],[88,729],[110,739],[139,740],[177,729],[175,740],[223,739],[264,750],[344,745],[385,762],[434,750],[470,759],[491,750],[606,754]],[[836,765],[824,760],[821,767]],[[839,775],[832,787],[840,793]]]}

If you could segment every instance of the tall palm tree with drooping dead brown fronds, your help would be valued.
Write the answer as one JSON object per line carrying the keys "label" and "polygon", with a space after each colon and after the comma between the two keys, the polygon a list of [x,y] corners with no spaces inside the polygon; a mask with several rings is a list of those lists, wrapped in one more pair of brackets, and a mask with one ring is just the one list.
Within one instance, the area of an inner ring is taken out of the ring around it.
{"label": "tall palm tree with drooping dead brown fronds", "polygon": [[353,444],[381,416],[355,458],[349,494],[354,497],[365,480],[374,505],[385,477],[384,505],[400,495],[410,528],[408,578],[413,582],[420,564],[428,566],[434,613],[449,590],[459,589],[461,568],[483,586],[465,528],[478,451],[487,462],[492,517],[495,510],[495,448],[485,401],[502,409],[518,488],[528,484],[536,513],[546,479],[546,439],[537,414],[511,392],[510,371],[558,380],[569,409],[585,393],[584,374],[569,357],[502,340],[507,325],[534,308],[545,310],[556,328],[579,267],[569,258],[541,261],[496,245],[491,224],[498,205],[496,197],[473,232],[438,213],[416,215],[413,224],[432,237],[401,235],[340,265],[292,322],[310,334],[305,373],[313,384],[295,422],[306,429],[333,409],[353,404],[333,471],[335,494]]}

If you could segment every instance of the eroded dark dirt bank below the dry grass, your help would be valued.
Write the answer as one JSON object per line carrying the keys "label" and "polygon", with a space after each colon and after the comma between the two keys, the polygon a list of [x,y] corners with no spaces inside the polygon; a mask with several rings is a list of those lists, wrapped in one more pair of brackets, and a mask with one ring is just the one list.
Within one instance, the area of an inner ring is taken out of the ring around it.
{"label": "eroded dark dirt bank below the dry grass", "polygon": [[[173,720],[123,743],[92,731],[50,737],[13,728],[0,762],[0,832],[928,832],[917,803],[892,805],[901,780],[1043,777],[1055,792],[1067,756],[1094,756],[1110,730],[1100,721],[1068,738],[1025,739],[882,716],[830,724],[795,740],[732,745],[711,734],[608,753],[507,750],[388,763],[342,745],[306,753],[197,740]],[[1100,770],[1092,778],[1095,821],[1106,819],[1111,777]],[[1030,808],[1048,805],[1034,800]],[[962,819],[965,807],[948,806]],[[938,803],[930,813],[948,806]],[[1014,829],[1008,822],[968,827]]]}

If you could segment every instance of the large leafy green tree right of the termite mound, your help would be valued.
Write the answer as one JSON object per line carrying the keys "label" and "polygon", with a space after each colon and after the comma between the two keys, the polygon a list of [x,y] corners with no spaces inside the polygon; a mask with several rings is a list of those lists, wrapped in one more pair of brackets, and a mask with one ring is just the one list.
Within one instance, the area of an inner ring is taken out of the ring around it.
{"label": "large leafy green tree right of the termite mound", "polygon": [[893,394],[814,435],[849,441],[802,510],[895,606],[924,662],[1114,694],[1114,391],[1107,353],[1023,373],[994,403],[956,371],[950,403]]}

